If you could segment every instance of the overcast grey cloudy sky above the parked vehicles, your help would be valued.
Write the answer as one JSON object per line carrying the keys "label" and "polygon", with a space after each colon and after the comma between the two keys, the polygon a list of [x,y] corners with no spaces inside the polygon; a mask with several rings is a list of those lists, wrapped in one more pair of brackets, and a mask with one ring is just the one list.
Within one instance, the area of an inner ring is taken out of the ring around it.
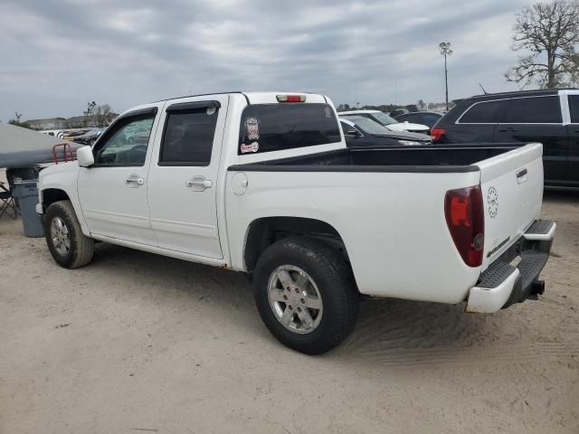
{"label": "overcast grey cloudy sky above the parked vehicles", "polygon": [[0,120],[116,111],[224,90],[323,92],[336,104],[514,89],[516,0],[0,0]]}

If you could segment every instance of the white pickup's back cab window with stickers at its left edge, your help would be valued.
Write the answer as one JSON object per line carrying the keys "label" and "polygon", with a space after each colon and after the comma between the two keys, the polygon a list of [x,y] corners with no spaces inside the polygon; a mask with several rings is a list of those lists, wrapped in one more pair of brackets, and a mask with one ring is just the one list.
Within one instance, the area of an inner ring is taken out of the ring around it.
{"label": "white pickup's back cab window with stickers at its left edge", "polygon": [[242,113],[238,155],[325,145],[341,140],[328,104],[256,104]]}

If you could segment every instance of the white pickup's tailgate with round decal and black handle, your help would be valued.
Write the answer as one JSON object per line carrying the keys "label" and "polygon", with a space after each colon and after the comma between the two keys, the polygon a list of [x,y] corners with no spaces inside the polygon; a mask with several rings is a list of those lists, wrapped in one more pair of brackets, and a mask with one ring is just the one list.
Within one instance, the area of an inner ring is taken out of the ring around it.
{"label": "white pickup's tailgate with round decal and black handle", "polygon": [[476,163],[485,208],[483,269],[538,218],[543,199],[542,156],[543,146],[535,143]]}

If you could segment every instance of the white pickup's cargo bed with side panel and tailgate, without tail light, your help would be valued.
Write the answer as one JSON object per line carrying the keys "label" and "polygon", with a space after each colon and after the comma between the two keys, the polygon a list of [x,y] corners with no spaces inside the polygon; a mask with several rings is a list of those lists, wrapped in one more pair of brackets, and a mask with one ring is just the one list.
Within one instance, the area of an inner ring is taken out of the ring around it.
{"label": "white pickup's cargo bed with side panel and tailgate, without tail light", "polygon": [[[401,146],[231,165],[231,249],[243,251],[252,222],[299,215],[337,231],[362,294],[459,303],[538,218],[541,152],[539,144]],[[470,186],[483,201],[480,267],[460,257],[445,215],[447,194]]]}

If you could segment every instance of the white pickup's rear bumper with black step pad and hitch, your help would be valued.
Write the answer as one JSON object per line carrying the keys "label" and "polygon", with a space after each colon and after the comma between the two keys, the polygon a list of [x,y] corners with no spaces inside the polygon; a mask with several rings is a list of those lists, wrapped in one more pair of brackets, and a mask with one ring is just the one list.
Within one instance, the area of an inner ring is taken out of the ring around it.
{"label": "white pickup's rear bumper with black step pad and hitch", "polygon": [[[470,289],[467,312],[491,313],[543,294],[539,274],[549,258],[556,224],[535,221],[521,238],[489,265]],[[512,265],[516,259],[518,264]]]}

